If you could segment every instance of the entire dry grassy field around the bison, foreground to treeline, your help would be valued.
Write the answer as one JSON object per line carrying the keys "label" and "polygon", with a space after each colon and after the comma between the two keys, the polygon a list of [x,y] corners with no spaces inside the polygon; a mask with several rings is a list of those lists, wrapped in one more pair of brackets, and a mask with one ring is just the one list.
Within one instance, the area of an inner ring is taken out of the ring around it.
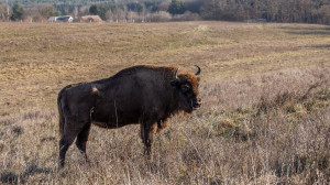
{"label": "entire dry grassy field around the bison, foreground to treeline", "polygon": [[[0,184],[329,184],[330,28],[0,23]],[[139,126],[92,127],[58,168],[64,86],[138,64],[201,67],[202,107],[143,156]]]}

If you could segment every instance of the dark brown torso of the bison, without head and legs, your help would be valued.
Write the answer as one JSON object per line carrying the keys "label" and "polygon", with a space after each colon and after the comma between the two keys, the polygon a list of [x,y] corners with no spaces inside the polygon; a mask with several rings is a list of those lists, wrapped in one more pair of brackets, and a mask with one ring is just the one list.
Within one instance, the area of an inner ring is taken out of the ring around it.
{"label": "dark brown torso of the bison, without head and legs", "polygon": [[[108,128],[165,117],[173,99],[174,67],[134,66],[110,78],[69,85],[58,95],[61,121],[98,122]],[[61,122],[59,121],[59,122]]]}

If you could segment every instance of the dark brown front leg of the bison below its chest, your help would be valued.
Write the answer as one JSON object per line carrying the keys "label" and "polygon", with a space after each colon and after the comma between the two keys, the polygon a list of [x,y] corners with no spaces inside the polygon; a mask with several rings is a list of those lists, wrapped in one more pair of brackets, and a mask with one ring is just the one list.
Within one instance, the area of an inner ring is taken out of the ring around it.
{"label": "dark brown front leg of the bison below its chest", "polygon": [[157,130],[157,124],[147,124],[145,122],[141,123],[141,139],[142,142],[145,145],[144,154],[151,155],[152,153],[152,145],[153,145],[153,140],[154,140],[154,134]]}

